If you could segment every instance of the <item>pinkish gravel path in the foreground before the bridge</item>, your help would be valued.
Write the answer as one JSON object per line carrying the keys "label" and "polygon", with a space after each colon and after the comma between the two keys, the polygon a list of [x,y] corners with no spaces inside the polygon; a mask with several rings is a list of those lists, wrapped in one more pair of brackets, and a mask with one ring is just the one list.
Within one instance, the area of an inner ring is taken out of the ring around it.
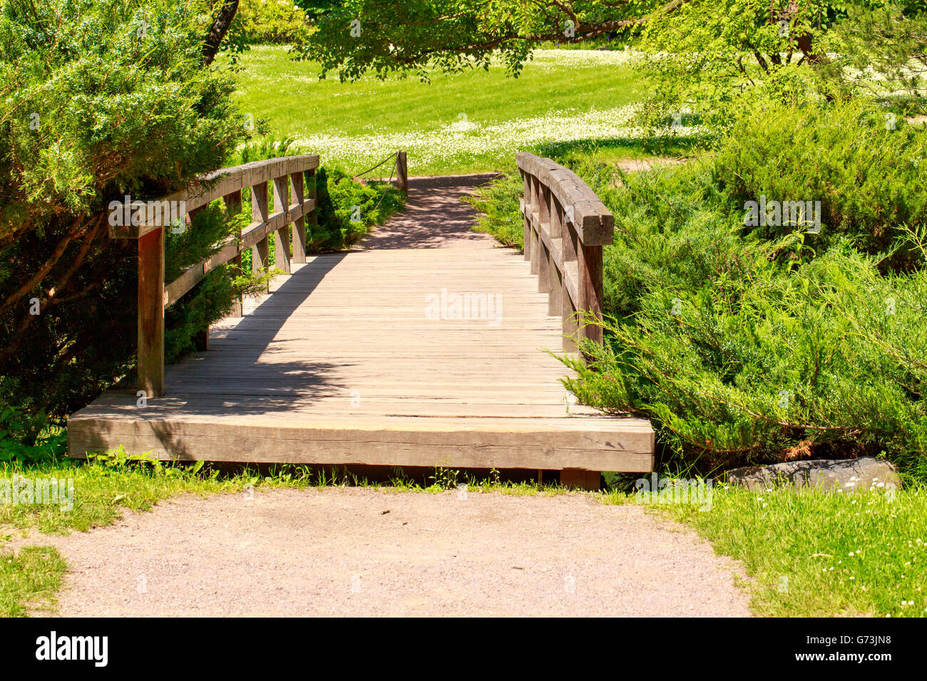
{"label": "pinkish gravel path in the foreground before the bridge", "polygon": [[705,541],[585,494],[280,489],[14,541],[65,556],[65,616],[748,614]]}

